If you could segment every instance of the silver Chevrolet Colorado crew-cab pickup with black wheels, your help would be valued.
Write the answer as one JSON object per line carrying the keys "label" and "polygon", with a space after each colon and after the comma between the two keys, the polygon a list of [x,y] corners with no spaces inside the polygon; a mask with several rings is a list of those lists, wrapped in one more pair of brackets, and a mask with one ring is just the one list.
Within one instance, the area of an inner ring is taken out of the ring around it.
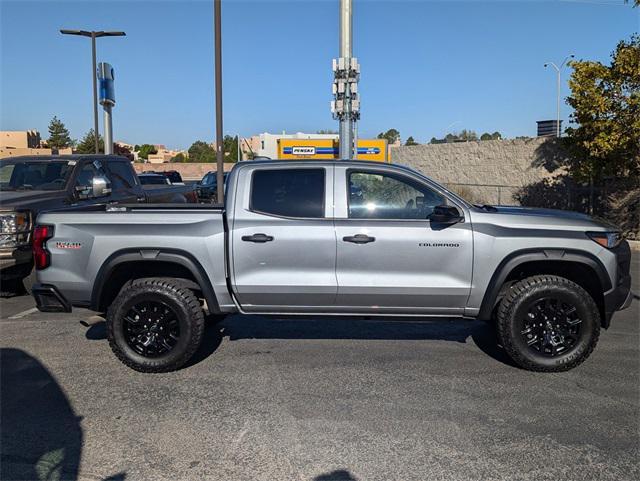
{"label": "silver Chevrolet Colorado crew-cab pickup with black wheels", "polygon": [[143,372],[184,365],[205,310],[488,320],[518,365],[562,371],[631,302],[615,227],[471,205],[380,163],[243,162],[224,205],[50,212],[34,239],[39,309],[106,312],[114,353]]}

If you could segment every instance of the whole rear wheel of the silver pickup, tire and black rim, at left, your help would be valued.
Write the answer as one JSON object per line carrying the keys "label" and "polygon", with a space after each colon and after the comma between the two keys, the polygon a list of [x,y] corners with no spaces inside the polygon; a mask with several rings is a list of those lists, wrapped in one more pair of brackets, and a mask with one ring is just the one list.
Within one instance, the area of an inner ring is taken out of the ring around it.
{"label": "whole rear wheel of the silver pickup, tire and black rim, at left", "polygon": [[178,280],[133,281],[107,311],[111,350],[140,372],[179,369],[198,350],[203,334],[200,303]]}

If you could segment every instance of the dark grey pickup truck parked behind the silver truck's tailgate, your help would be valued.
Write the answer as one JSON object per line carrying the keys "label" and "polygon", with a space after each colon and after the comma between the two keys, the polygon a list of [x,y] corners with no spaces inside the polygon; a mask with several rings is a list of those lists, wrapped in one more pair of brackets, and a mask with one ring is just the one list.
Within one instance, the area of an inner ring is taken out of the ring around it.
{"label": "dark grey pickup truck parked behind the silver truck's tailgate", "polygon": [[33,221],[39,212],[106,204],[196,202],[187,186],[141,185],[118,156],[25,156],[0,161],[0,280],[32,271]]}

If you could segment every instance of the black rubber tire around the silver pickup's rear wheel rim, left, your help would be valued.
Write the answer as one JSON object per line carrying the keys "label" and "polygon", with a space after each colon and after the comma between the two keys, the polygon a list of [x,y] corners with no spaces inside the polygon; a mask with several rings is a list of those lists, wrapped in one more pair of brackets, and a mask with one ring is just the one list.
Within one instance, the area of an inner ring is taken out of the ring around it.
{"label": "black rubber tire around the silver pickup's rear wheel rim, left", "polygon": [[[125,339],[127,306],[137,300],[154,299],[167,304],[180,326],[177,344],[160,357],[145,357]],[[200,347],[204,335],[204,313],[198,298],[179,280],[146,278],[126,285],[107,311],[107,338],[111,350],[123,364],[139,372],[159,373],[180,369]]]}

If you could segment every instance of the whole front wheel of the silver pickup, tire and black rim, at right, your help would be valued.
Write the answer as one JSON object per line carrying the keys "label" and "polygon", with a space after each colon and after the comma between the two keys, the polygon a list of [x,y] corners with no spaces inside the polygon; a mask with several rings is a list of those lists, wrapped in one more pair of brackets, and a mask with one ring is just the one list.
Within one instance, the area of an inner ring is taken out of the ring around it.
{"label": "whole front wheel of the silver pickup, tire and black rim, at right", "polygon": [[600,313],[578,284],[539,275],[511,286],[498,308],[497,328],[502,346],[520,367],[568,371],[593,352]]}

